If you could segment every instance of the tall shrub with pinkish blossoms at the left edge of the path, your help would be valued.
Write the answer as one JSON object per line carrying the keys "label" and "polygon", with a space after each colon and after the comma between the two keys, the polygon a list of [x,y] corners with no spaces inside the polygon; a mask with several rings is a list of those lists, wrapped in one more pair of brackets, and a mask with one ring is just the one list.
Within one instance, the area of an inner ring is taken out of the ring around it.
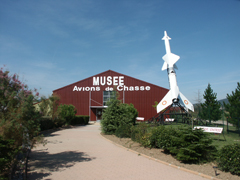
{"label": "tall shrub with pinkish blossoms at the left edge of the path", "polygon": [[13,139],[16,149],[27,141],[35,142],[39,133],[41,116],[33,106],[38,95],[37,89],[29,90],[16,74],[0,69],[0,135]]}

